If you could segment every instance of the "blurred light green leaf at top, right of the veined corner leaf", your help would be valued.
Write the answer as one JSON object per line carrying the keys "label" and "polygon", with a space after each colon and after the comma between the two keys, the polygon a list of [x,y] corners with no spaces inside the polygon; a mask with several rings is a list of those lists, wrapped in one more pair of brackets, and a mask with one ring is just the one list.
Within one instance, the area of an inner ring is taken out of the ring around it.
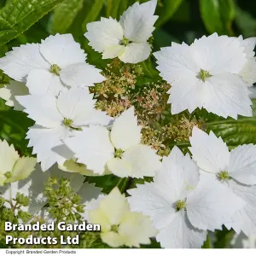
{"label": "blurred light green leaf at top, right of the veined corner leaf", "polygon": [[74,18],[83,7],[83,0],[66,0],[59,4],[49,22],[49,32],[65,33],[72,25]]}

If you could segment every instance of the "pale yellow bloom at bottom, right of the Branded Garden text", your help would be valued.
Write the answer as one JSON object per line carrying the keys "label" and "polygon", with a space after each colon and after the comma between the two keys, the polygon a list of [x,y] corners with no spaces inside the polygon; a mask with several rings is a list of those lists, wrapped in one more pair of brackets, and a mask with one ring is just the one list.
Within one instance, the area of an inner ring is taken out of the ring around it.
{"label": "pale yellow bloom at bottom, right of the Branded Garden text", "polygon": [[88,221],[101,225],[102,241],[111,247],[140,247],[149,244],[149,238],[157,233],[148,217],[130,211],[125,195],[118,188],[100,195],[91,205],[88,202],[85,209],[89,210]]}

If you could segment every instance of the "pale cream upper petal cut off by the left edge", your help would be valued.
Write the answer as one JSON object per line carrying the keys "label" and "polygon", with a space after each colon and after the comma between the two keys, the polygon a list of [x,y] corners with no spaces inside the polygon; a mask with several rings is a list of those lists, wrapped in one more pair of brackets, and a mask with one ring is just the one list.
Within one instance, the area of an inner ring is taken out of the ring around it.
{"label": "pale cream upper petal cut off by the left edge", "polygon": [[12,172],[18,159],[19,154],[15,151],[14,145],[9,146],[5,140],[0,140],[0,173]]}

